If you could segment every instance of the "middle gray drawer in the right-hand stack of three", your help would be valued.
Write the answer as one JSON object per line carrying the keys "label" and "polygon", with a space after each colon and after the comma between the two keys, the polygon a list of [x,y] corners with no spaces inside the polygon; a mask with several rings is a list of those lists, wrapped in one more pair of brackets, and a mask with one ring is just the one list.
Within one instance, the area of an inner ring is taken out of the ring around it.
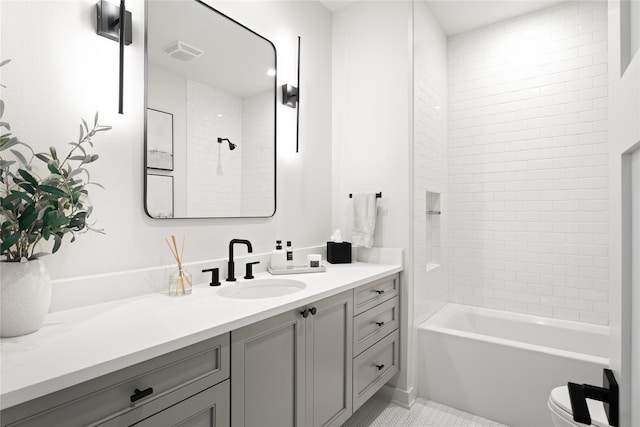
{"label": "middle gray drawer in the right-hand stack of three", "polygon": [[399,298],[385,301],[353,319],[353,353],[362,353],[398,328]]}

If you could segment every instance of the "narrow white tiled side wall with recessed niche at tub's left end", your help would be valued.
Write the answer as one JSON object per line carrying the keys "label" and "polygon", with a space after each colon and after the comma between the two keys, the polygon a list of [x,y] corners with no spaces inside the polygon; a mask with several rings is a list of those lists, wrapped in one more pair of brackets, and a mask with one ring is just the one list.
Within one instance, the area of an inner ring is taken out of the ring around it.
{"label": "narrow white tiled side wall with recessed niche at tub's left end", "polygon": [[[449,299],[447,275],[447,38],[425,2],[414,3],[413,25],[413,270],[416,324]],[[440,193],[443,215],[427,215],[426,193]],[[437,224],[437,227],[435,226]],[[427,235],[435,242],[428,242]],[[439,252],[440,267],[427,272]]]}

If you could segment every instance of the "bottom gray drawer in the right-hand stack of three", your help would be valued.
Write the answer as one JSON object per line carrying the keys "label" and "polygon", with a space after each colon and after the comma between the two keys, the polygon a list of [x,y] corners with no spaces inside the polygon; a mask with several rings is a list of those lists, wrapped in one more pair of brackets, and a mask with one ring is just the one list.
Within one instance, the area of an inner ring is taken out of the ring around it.
{"label": "bottom gray drawer in the right-hand stack of three", "polygon": [[396,330],[353,359],[354,412],[398,372],[399,337]]}

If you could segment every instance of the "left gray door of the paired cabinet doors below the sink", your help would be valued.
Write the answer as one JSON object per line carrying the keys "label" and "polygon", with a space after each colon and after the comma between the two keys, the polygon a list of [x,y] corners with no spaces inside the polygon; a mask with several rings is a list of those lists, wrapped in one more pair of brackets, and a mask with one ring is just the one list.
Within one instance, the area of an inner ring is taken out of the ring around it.
{"label": "left gray door of the paired cabinet doors below the sink", "polygon": [[305,425],[305,322],[300,310],[231,333],[234,427]]}

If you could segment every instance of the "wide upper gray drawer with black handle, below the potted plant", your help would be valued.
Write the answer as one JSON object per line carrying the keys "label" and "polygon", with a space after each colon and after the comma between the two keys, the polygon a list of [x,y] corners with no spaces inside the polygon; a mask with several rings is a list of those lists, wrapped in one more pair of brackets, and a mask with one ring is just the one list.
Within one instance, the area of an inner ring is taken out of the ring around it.
{"label": "wide upper gray drawer with black handle, below the potted plant", "polygon": [[[27,402],[2,416],[12,420],[10,426],[19,427],[91,425],[145,405],[164,405],[172,391],[194,383],[221,382],[229,377],[229,368],[229,334],[225,334]],[[136,389],[148,394],[132,402]]]}

